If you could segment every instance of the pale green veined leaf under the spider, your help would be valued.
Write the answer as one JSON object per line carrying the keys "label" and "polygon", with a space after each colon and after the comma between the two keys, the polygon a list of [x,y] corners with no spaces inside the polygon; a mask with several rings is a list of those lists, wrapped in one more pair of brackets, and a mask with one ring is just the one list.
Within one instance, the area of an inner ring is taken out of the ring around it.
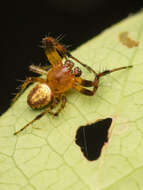
{"label": "pale green veined leaf under the spider", "polygon": [[[138,46],[122,44],[122,32]],[[68,92],[58,117],[47,114],[14,136],[40,112],[27,105],[28,88],[0,118],[1,190],[143,189],[143,13],[104,31],[73,55],[96,71],[133,68],[103,77],[94,97]],[[85,78],[93,77],[83,72]],[[75,144],[76,131],[107,117],[113,118],[109,142],[100,158],[90,162]]]}

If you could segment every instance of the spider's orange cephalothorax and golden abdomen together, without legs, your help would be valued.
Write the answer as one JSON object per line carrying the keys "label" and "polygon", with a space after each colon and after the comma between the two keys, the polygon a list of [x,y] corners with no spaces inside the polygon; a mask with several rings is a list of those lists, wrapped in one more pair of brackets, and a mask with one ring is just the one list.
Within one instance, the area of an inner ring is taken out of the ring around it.
{"label": "spider's orange cephalothorax and golden abdomen together, without legs", "polygon": [[46,80],[38,83],[31,90],[27,102],[32,108],[45,107],[54,97],[58,97],[73,88],[74,83],[75,76],[72,67],[59,62],[47,72]]}

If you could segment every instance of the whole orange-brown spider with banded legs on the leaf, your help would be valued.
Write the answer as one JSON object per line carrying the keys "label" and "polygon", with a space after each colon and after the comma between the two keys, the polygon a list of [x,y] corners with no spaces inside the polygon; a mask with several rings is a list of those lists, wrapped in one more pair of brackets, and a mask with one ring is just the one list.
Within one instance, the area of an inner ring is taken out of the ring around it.
{"label": "whole orange-brown spider with banded legs on the leaf", "polygon": [[[22,132],[25,128],[33,124],[36,120],[40,119],[47,113],[57,116],[65,107],[67,101],[65,93],[70,89],[76,89],[84,95],[93,96],[98,88],[99,79],[101,77],[112,72],[131,67],[119,67],[112,70],[105,70],[101,73],[96,73],[91,67],[73,57],[63,45],[61,45],[56,39],[52,37],[45,37],[42,39],[42,48],[44,49],[52,67],[49,69],[49,66],[41,67],[31,65],[29,69],[34,73],[45,75],[46,79],[40,77],[26,78],[25,82],[21,86],[20,92],[17,93],[17,95],[13,98],[12,103],[17,100],[17,98],[24,92],[30,83],[36,82],[36,86],[30,91],[27,97],[27,103],[33,109],[41,109],[46,106],[48,107],[23,128],[16,131],[14,135]],[[65,58],[64,63],[62,61],[62,57]],[[74,67],[74,62],[69,58],[77,61],[86,69],[93,72],[93,81],[83,79],[81,77],[81,69],[79,67]],[[86,87],[92,87],[92,90],[87,89]],[[56,112],[53,112],[52,110],[60,101],[60,108],[58,108]]]}

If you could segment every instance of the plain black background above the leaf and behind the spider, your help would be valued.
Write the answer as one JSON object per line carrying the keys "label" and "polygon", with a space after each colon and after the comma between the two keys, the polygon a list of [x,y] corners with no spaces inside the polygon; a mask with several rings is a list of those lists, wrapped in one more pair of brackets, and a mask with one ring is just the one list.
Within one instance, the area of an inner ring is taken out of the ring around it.
{"label": "plain black background above the leaf and behind the spider", "polygon": [[143,0],[31,0],[1,5],[0,114],[20,84],[16,79],[31,75],[31,63],[45,62],[38,47],[42,37],[49,32],[53,37],[65,34],[63,42],[73,50],[142,7]]}

